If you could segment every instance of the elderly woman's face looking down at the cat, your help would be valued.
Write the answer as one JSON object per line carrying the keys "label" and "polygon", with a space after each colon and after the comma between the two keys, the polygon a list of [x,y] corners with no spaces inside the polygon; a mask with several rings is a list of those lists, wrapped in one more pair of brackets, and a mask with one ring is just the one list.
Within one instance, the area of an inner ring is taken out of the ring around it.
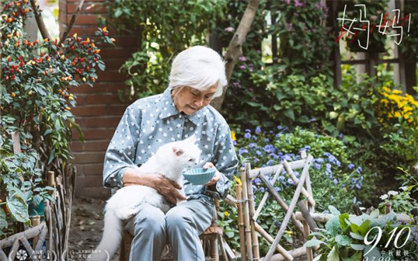
{"label": "elderly woman's face looking down at the cat", "polygon": [[175,88],[171,92],[174,105],[179,112],[192,115],[204,106],[210,104],[217,86],[208,88],[207,90],[196,90],[192,87],[185,86],[183,88]]}

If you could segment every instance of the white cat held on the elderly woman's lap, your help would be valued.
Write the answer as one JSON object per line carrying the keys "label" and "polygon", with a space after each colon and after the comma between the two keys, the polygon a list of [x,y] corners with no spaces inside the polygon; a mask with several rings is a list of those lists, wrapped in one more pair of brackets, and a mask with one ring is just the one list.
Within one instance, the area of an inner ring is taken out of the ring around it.
{"label": "white cat held on the elderly woman's lap", "polygon": [[[183,171],[199,163],[201,150],[194,144],[195,142],[196,137],[193,135],[183,141],[162,145],[146,163],[139,167],[138,171],[160,173],[178,184],[183,184]],[[183,189],[180,193],[185,195]],[[89,260],[111,259],[121,242],[123,221],[137,214],[142,203],[159,207],[164,213],[170,209],[168,201],[153,188],[132,185],[118,189],[104,207],[103,237],[95,254],[91,255]]]}

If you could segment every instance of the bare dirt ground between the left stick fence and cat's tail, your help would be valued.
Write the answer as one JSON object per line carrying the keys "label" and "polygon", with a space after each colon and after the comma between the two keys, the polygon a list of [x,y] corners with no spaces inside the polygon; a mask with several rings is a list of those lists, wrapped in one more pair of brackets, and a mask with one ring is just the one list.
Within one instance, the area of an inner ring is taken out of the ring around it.
{"label": "bare dirt ground between the left stick fence and cat's tail", "polygon": [[[72,203],[68,260],[84,260],[100,242],[103,229],[104,200],[75,198]],[[116,253],[111,261],[118,260]]]}

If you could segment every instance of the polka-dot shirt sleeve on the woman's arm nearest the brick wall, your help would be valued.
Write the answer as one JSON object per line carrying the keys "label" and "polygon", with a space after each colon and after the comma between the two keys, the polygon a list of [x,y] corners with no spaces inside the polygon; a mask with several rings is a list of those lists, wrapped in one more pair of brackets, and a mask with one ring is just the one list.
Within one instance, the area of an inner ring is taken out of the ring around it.
{"label": "polka-dot shirt sleeve on the woman's arm nearest the brick wall", "polygon": [[126,168],[137,167],[134,159],[140,132],[141,110],[134,103],[123,114],[104,156],[104,187],[123,187],[122,178]]}

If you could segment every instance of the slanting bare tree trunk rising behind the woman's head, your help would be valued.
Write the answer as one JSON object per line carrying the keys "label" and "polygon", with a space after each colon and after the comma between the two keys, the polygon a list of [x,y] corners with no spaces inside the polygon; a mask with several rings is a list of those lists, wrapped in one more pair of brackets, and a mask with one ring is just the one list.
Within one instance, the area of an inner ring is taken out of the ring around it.
{"label": "slanting bare tree trunk rising behind the woman's head", "polygon": [[[250,0],[245,10],[244,15],[242,16],[240,25],[238,26],[237,31],[233,35],[231,42],[229,42],[229,47],[226,50],[226,54],[224,59],[226,61],[226,79],[229,82],[231,79],[231,75],[233,72],[233,68],[235,67],[238,57],[242,55],[242,43],[245,41],[247,37],[247,33],[251,27],[252,22],[254,21],[254,17],[256,17],[257,8],[260,5],[260,0]],[[218,111],[222,107],[222,102],[224,102],[226,89],[228,86],[224,88],[224,92],[220,97],[215,98],[210,102],[215,109]]]}

